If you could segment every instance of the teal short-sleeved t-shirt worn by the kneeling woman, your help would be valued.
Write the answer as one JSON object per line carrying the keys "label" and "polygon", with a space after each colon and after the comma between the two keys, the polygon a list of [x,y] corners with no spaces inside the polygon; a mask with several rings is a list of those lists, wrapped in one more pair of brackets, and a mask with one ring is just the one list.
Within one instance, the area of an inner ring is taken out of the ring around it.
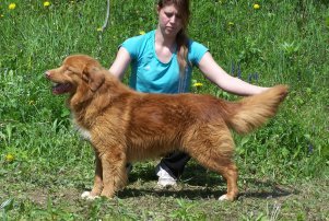
{"label": "teal short-sleeved t-shirt worn by the kneeling woman", "polygon": [[[120,46],[126,48],[131,57],[131,75],[129,85],[140,92],[148,93],[183,93],[188,92],[191,82],[192,67],[188,66],[184,78],[179,75],[179,65],[176,51],[172,59],[164,63],[155,53],[155,31],[134,36]],[[188,61],[198,66],[208,48],[189,39]]]}

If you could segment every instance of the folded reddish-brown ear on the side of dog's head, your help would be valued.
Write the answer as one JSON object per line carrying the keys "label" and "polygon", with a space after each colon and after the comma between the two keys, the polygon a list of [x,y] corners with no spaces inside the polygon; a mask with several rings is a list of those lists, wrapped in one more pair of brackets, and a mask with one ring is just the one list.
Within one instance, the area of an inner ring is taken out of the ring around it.
{"label": "folded reddish-brown ear on the side of dog's head", "polygon": [[82,79],[87,82],[92,92],[97,91],[105,81],[102,68],[96,66],[86,66],[82,73]]}

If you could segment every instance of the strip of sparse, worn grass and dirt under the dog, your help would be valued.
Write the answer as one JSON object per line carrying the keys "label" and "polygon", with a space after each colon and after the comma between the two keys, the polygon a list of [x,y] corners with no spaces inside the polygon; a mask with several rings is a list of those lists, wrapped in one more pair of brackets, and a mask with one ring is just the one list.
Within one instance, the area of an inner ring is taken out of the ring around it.
{"label": "strip of sparse, worn grass and dirt under the dog", "polygon": [[95,201],[80,198],[92,184],[90,177],[80,181],[59,173],[52,177],[57,183],[33,176],[20,183],[15,176],[5,176],[1,178],[4,188],[0,199],[1,203],[13,199],[12,208],[5,213],[13,220],[329,220],[328,179],[280,185],[240,177],[238,199],[222,202],[218,197],[226,187],[221,177],[198,166],[189,171],[199,174],[198,177],[187,172],[176,188],[158,189],[153,166],[137,166],[130,174],[129,185],[115,199]]}

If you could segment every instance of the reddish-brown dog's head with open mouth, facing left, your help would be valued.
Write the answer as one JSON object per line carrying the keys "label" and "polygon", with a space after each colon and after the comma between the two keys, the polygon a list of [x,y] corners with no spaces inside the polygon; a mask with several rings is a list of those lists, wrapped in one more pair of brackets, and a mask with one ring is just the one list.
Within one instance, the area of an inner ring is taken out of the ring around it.
{"label": "reddish-brown dog's head with open mouth, facing left", "polygon": [[102,66],[85,55],[73,55],[64,59],[59,68],[46,71],[45,75],[54,82],[52,93],[74,95],[95,92],[105,80]]}

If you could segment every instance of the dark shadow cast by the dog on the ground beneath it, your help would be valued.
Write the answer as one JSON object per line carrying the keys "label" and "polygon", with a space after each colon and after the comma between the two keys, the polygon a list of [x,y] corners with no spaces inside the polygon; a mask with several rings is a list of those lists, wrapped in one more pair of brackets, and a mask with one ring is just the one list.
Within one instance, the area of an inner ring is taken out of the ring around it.
{"label": "dark shadow cast by the dog on the ground beneath it", "polygon": [[[157,176],[153,165],[138,167],[129,175],[129,186],[119,193],[119,198],[142,196],[175,197],[188,199],[218,198],[225,194],[226,182],[216,173],[210,172],[196,163],[189,163],[178,182],[178,187],[156,188]],[[294,188],[279,186],[272,181],[247,181],[238,196],[242,198],[280,198],[297,194]]]}

